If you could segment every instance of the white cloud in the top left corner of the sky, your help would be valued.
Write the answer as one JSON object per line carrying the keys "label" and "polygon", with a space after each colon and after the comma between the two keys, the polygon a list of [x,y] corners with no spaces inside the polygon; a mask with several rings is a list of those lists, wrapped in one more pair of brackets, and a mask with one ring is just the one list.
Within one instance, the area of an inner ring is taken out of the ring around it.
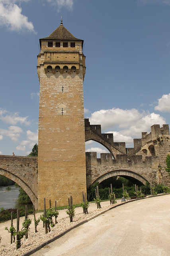
{"label": "white cloud in the top left corner of the sky", "polygon": [[21,14],[22,9],[16,2],[27,2],[28,0],[0,0],[0,26],[6,26],[12,31],[34,32],[32,22]]}

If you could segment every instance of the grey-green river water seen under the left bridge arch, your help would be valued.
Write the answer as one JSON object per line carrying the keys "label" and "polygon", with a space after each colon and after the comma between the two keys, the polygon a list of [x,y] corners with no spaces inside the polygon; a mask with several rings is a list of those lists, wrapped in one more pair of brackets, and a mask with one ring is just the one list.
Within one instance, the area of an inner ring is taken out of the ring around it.
{"label": "grey-green river water seen under the left bridge arch", "polygon": [[17,198],[19,195],[19,188],[16,188],[15,186],[9,186],[11,190],[7,190],[7,187],[0,187],[0,208],[6,209],[19,209],[22,206],[25,207],[25,205],[28,206],[28,209],[32,209],[32,204],[23,204],[18,203]]}

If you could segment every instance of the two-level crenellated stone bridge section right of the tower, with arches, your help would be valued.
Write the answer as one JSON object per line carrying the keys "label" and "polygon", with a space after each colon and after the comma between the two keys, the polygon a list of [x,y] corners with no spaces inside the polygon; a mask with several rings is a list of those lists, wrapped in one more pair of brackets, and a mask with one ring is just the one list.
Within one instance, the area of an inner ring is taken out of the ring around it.
{"label": "two-level crenellated stone bridge section right of the tower, with arches", "polygon": [[85,119],[85,140],[99,142],[110,153],[86,152],[87,188],[112,176],[122,176],[136,184],[166,184],[170,176],[165,170],[166,156],[170,152],[169,126],[154,124],[151,132],[142,132],[142,138],[134,139],[134,148],[126,148],[125,142],[114,142],[113,134],[102,134],[100,125],[91,125]]}

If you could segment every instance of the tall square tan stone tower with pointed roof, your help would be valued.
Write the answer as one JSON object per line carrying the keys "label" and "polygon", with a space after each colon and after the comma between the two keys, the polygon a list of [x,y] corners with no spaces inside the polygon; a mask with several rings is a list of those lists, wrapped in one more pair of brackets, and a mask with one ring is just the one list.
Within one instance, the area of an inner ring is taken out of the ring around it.
{"label": "tall square tan stone tower with pointed roof", "polygon": [[83,40],[61,25],[40,39],[38,209],[82,201],[86,192]]}

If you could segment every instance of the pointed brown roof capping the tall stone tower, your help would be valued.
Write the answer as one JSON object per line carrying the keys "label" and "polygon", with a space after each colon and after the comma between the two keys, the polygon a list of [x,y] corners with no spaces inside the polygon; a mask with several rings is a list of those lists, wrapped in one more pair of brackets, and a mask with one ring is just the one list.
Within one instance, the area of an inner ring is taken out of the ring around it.
{"label": "pointed brown roof capping the tall stone tower", "polygon": [[63,25],[60,25],[48,37],[42,38],[43,40],[74,40],[82,41],[81,39],[73,36]]}

